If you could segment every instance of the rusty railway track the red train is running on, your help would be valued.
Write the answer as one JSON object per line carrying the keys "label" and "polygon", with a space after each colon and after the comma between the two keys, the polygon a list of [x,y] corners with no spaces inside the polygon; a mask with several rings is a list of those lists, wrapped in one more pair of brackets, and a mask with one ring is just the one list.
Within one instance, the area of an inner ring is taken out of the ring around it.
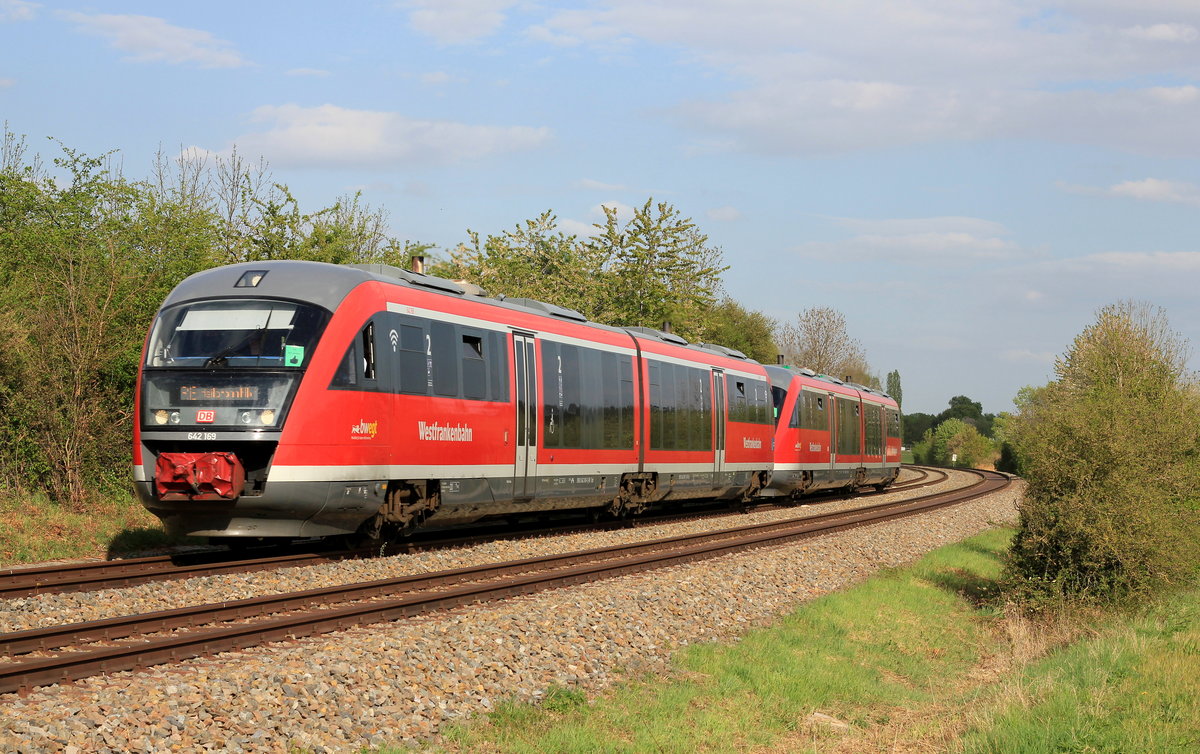
{"label": "rusty railway track the red train is running on", "polygon": [[[914,468],[913,471],[919,474],[916,479],[910,479],[902,484],[893,485],[887,490],[887,492],[930,486],[938,484],[947,478],[946,472],[934,468]],[[696,515],[696,510],[650,515],[616,523],[614,526],[654,526],[686,520]],[[596,525],[589,522],[574,526],[556,525],[550,529],[545,527],[538,527],[534,529],[524,527],[523,529],[517,529],[516,535],[545,537],[550,534],[590,529],[595,528],[595,526]],[[397,555],[440,547],[456,547],[478,544],[481,541],[490,541],[502,537],[512,537],[514,533],[514,529],[508,528],[502,532],[491,532],[487,534],[467,537],[461,534],[455,534],[452,537],[421,537],[406,543],[388,545],[385,553]],[[380,553],[380,549],[365,547],[329,552],[295,552],[293,549],[292,551],[283,553],[280,552],[280,549],[264,549],[263,555],[258,557],[236,557],[235,559],[230,559],[230,553],[228,551],[211,550],[126,558],[119,561],[89,561],[82,563],[38,566],[32,568],[11,568],[0,570],[0,599],[60,592],[91,592],[96,590],[124,588],[152,581],[192,579],[196,576],[212,576],[230,573],[251,573],[256,570],[271,570],[275,568],[317,566],[335,561],[373,557]]]}

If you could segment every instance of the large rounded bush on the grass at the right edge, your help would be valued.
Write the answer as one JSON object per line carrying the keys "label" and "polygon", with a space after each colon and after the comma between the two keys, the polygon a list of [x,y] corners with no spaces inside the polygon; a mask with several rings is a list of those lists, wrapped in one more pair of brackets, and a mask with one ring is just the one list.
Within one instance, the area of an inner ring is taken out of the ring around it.
{"label": "large rounded bush on the grass at the right edge", "polygon": [[1007,435],[1027,481],[1010,594],[1135,600],[1196,570],[1200,393],[1160,310],[1100,310],[1056,365],[1018,396]]}

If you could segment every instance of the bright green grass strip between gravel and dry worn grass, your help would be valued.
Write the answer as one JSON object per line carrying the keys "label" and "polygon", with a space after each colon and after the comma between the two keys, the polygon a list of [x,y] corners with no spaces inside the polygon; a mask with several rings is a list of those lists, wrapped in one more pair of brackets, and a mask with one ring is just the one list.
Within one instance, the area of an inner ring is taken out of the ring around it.
{"label": "bright green grass strip between gravel and dry worn grass", "polygon": [[[745,752],[787,748],[937,701],[991,638],[972,602],[1000,573],[1012,532],[944,547],[799,609],[731,645],[690,647],[665,682],[626,684],[594,705],[558,711],[508,705],[449,746],[503,752]],[[961,591],[961,593],[960,593]],[[966,594],[964,597],[962,594]],[[814,713],[832,718],[815,722]],[[946,735],[923,724],[924,736]]]}

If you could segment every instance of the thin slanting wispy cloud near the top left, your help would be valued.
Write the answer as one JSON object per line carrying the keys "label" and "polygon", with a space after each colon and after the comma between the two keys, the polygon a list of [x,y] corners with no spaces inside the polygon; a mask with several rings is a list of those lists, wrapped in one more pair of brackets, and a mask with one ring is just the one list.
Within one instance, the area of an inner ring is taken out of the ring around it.
{"label": "thin slanting wispy cloud near the top left", "polygon": [[104,37],[138,62],[194,64],[202,68],[236,68],[248,65],[233,44],[208,31],[185,29],[150,16],[89,16],[71,11],[59,14],[82,31]]}

